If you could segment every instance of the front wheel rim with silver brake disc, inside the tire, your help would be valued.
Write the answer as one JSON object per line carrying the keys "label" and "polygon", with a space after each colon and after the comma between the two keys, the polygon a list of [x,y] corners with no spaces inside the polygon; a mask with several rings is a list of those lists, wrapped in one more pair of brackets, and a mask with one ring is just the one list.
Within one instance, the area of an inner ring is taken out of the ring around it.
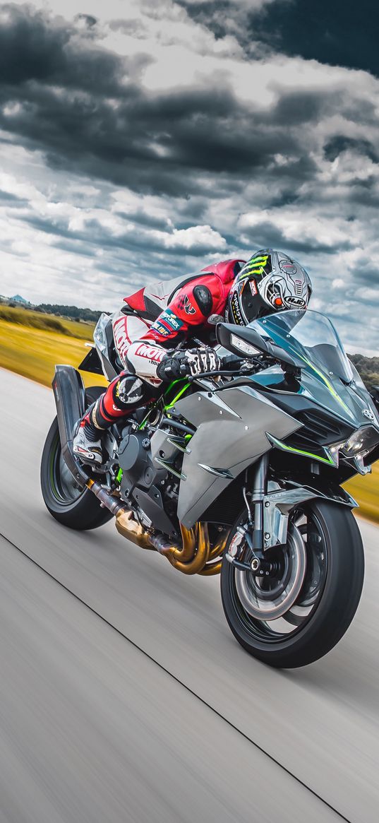
{"label": "front wheel rim with silver brake disc, inside the tire", "polygon": [[328,554],[321,523],[312,511],[293,513],[286,546],[269,550],[266,556],[277,561],[279,551],[283,558],[276,577],[266,584],[252,572],[232,569],[234,610],[244,630],[265,644],[298,634],[321,600]]}

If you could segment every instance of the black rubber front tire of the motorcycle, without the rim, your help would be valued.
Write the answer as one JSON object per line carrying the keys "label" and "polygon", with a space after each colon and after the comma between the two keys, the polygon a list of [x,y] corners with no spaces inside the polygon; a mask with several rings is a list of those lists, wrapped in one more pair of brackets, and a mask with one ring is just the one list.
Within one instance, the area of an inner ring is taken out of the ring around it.
{"label": "black rubber front tire of the motorcycle, without the rim", "polygon": [[[316,500],[307,504],[303,512],[308,518],[312,518],[312,523],[316,524],[315,528],[319,530],[323,540],[324,547],[320,555],[323,558],[323,577],[322,579],[320,577],[317,597],[313,596],[313,600],[312,597],[307,600],[307,595],[305,597],[303,595],[303,602],[300,602],[301,595],[299,595],[298,601],[293,604],[294,611],[296,607],[298,611],[302,611],[304,603],[308,606],[309,602],[312,602],[309,616],[302,620],[295,616],[290,619],[288,612],[288,615],[282,618],[288,621],[288,624],[294,625],[288,634],[278,635],[271,628],[272,621],[271,623],[270,621],[257,621],[247,614],[238,597],[236,585],[236,571],[238,574],[238,570],[226,560],[225,556],[221,569],[221,597],[224,613],[233,635],[253,657],[273,667],[306,666],[333,649],[353,620],[362,593],[363,543],[350,509],[335,503]],[[232,528],[229,541],[238,523],[244,520],[246,520],[246,510]],[[307,551],[309,548],[308,546]],[[226,551],[228,551],[228,546]],[[321,550],[318,549],[318,551]]]}

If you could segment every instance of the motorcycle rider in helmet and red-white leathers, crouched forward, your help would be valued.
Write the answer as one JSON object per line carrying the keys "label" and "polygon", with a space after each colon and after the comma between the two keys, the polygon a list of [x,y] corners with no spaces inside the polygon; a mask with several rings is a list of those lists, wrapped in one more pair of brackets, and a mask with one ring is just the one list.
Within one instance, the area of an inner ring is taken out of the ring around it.
{"label": "motorcycle rider in helmet and red-white leathers, crouched forward", "polygon": [[[78,422],[74,453],[83,463],[101,464],[104,429],[154,400],[162,382],[220,369],[209,345],[217,319],[245,326],[274,311],[306,309],[311,294],[310,278],[299,263],[264,249],[247,263],[225,260],[125,297],[126,306],[112,321],[125,370]],[[194,334],[202,338],[201,346],[173,351]]]}

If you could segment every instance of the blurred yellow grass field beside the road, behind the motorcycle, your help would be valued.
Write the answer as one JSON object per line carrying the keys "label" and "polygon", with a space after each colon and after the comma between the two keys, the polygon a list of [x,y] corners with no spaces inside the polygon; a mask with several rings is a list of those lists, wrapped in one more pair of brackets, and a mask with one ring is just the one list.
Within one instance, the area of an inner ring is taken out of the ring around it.
{"label": "blurred yellow grass field beside the road, behind the motorcycle", "polygon": [[[0,317],[5,308],[0,306]],[[51,386],[56,363],[67,363],[76,368],[81,363],[88,351],[84,342],[92,339],[93,326],[58,318],[63,332],[49,331],[44,324],[50,315],[46,317],[22,309],[10,311],[17,313],[16,323],[0,319],[0,366],[4,369]],[[43,328],[21,324],[23,315],[30,322],[32,314],[37,315],[35,322],[41,319]],[[86,386],[107,385],[99,374],[81,372],[81,375]],[[360,513],[379,522],[379,461],[372,468],[372,475],[354,477],[346,483],[346,489],[359,503]]]}

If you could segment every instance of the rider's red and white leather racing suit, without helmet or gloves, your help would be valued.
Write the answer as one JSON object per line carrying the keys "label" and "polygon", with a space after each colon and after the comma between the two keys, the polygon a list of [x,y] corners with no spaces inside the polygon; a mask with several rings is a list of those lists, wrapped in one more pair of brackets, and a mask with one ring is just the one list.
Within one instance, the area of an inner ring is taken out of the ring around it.
{"label": "rider's red and white leather racing suit, without helmet or gloves", "polygon": [[161,384],[157,368],[178,342],[201,332],[206,343],[204,330],[214,328],[208,318],[224,317],[229,291],[244,262],[225,260],[124,298],[126,306],[113,316],[113,337],[126,369],[96,403],[96,425],[107,427],[156,397]]}

